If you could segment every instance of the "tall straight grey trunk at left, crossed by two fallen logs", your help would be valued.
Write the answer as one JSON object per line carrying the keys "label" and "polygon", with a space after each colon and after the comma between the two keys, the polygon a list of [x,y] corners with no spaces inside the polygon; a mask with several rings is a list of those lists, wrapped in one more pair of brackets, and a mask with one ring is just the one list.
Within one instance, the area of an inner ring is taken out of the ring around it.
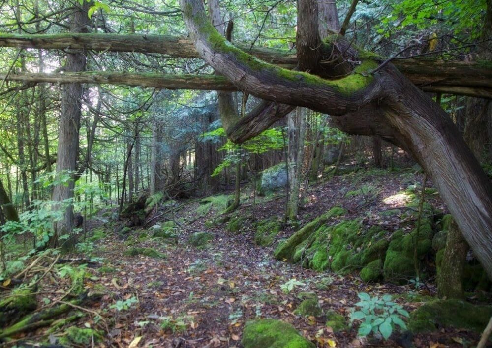
{"label": "tall straight grey trunk at left, crossed by two fallen logs", "polygon": [[[70,19],[70,32],[86,32],[89,24],[87,9],[90,4],[83,1],[83,5],[79,6],[77,11]],[[65,71],[77,72],[84,71],[86,68],[86,54],[84,51],[69,52],[65,62]],[[81,84],[67,84],[62,89],[62,114],[60,116],[60,129],[58,139],[57,152],[57,167],[58,174],[63,174],[66,171],[75,171],[77,153],[79,149],[79,130],[80,130],[80,114],[82,98]],[[54,235],[50,240],[50,246],[55,247],[60,243],[58,238],[68,234],[73,227],[73,204],[69,203],[64,206],[63,201],[73,199],[73,189],[75,186],[74,180],[70,180],[68,185],[59,184],[53,189],[53,201],[60,202],[54,205],[54,209],[64,209],[63,217],[60,221],[55,222]],[[66,239],[63,242],[64,249],[73,248],[75,240],[73,238]]]}

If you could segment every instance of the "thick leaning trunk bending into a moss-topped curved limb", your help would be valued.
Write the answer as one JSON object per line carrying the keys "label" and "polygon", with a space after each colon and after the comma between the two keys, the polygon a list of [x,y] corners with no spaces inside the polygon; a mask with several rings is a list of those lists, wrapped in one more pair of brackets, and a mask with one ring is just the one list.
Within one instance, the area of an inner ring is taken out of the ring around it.
{"label": "thick leaning trunk bending into a moss-topped curved limb", "polygon": [[[492,278],[492,185],[447,114],[392,64],[362,59],[351,75],[325,80],[281,69],[233,47],[208,23],[199,0],[182,0],[200,55],[245,92],[335,116],[347,133],[379,135],[423,165],[468,244]],[[339,37],[338,47],[348,46]],[[346,58],[361,59],[350,48]]]}

